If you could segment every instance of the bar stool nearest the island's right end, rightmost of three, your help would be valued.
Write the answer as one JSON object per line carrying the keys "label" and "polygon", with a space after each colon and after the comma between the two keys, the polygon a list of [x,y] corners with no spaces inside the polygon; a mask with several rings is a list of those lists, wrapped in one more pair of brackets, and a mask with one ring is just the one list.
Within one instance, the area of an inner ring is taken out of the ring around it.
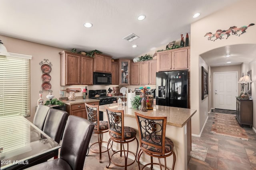
{"label": "bar stool nearest the island's right end, rightmost of three", "polygon": [[[150,156],[151,162],[144,165],[142,169],[151,165],[152,170],[153,164],[159,165],[160,169],[162,169],[162,166],[164,166],[165,170],[169,169],[166,167],[166,157],[173,155],[172,170],[174,170],[176,162],[176,155],[173,150],[174,144],[171,139],[165,137],[167,117],[149,117],[137,112],[134,113],[140,134],[139,170],[140,156],[143,152]],[[158,158],[159,163],[154,163],[153,157]],[[164,158],[164,165],[161,164],[160,158]]]}

